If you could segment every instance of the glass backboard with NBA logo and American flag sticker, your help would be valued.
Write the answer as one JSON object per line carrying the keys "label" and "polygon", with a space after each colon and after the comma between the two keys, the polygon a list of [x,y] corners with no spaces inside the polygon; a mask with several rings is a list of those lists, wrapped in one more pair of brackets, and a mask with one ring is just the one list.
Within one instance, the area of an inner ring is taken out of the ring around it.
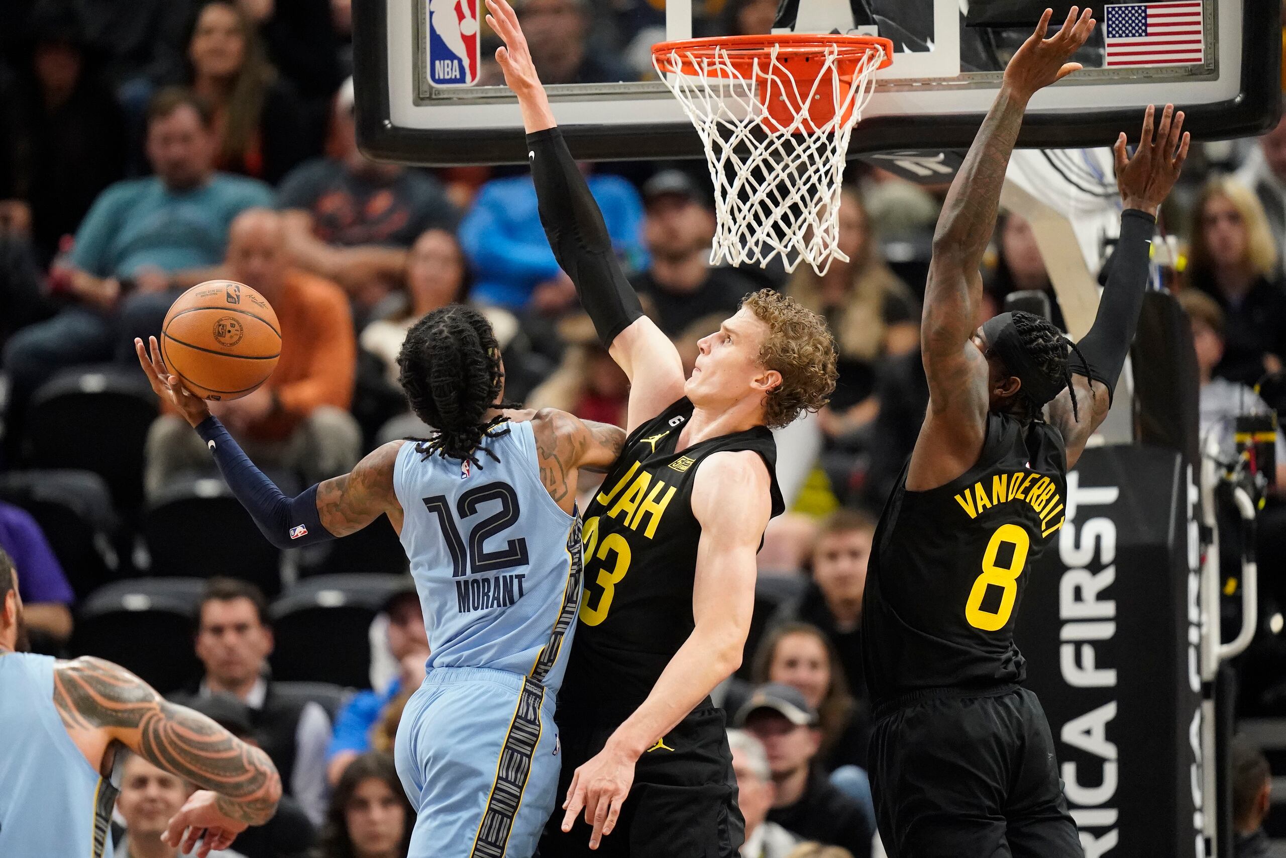
{"label": "glass backboard with NBA logo and American flag sticker", "polygon": [[[966,148],[1042,0],[521,0],[514,6],[572,152],[584,160],[700,157],[651,68],[652,44],[747,32],[891,39],[850,156]],[[521,163],[522,122],[478,0],[356,0],[359,141],[431,166]],[[1020,145],[1103,145],[1173,102],[1199,139],[1267,129],[1281,99],[1280,6],[1157,0],[1094,8],[1084,71],[1033,100]]]}

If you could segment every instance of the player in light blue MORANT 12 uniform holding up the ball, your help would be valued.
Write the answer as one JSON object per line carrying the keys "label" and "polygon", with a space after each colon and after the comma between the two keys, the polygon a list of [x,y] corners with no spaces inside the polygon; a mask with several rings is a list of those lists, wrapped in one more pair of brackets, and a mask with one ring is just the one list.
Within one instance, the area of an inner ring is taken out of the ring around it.
{"label": "player in light blue MORANT 12 uniform holding up the ball", "polygon": [[554,700],[581,593],[580,468],[616,459],[625,432],[547,409],[503,410],[504,364],[486,319],[451,305],[421,319],[397,363],[435,427],[352,473],[283,495],[206,403],[136,341],[156,392],[210,446],[228,485],[280,548],[346,536],[387,515],[410,560],[432,656],[397,731],[417,809],[412,858],[529,858],[554,809]]}

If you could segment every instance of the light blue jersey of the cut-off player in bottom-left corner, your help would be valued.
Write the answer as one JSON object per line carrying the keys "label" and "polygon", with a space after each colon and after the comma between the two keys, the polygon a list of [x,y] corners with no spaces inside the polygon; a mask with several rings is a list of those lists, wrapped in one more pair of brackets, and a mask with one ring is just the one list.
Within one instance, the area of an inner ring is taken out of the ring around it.
{"label": "light blue jersey of the cut-off player in bottom-left corner", "polygon": [[51,657],[0,656],[0,855],[109,855],[116,789],[58,717]]}

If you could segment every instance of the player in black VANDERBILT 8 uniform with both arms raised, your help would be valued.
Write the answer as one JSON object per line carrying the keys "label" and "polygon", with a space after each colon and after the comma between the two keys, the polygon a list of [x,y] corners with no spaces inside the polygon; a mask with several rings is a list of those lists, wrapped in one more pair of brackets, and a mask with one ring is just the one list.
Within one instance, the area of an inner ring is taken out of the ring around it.
{"label": "player in black VANDERBILT 8 uniform with both arms raised", "polygon": [[1148,108],[1133,158],[1116,141],[1124,214],[1098,314],[1076,345],[1044,319],[974,328],[979,262],[1028,100],[1076,71],[1094,21],[1051,12],[1004,84],[952,183],[923,311],[930,404],[874,536],[863,602],[876,705],[871,781],[890,858],[1082,855],[1049,726],[1021,687],[1013,646],[1024,571],[1062,526],[1067,468],[1107,415],[1147,286],[1156,210],[1188,149],[1168,105]]}

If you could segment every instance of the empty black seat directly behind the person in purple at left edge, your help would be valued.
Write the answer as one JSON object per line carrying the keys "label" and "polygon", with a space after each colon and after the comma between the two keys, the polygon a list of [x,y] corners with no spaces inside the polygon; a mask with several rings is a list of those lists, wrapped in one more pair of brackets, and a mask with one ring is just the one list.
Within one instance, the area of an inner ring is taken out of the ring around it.
{"label": "empty black seat directly behind the person in purple at left edge", "polygon": [[84,599],[116,578],[117,516],[103,477],[90,471],[12,471],[0,500],[26,509],[49,540],[67,580]]}

